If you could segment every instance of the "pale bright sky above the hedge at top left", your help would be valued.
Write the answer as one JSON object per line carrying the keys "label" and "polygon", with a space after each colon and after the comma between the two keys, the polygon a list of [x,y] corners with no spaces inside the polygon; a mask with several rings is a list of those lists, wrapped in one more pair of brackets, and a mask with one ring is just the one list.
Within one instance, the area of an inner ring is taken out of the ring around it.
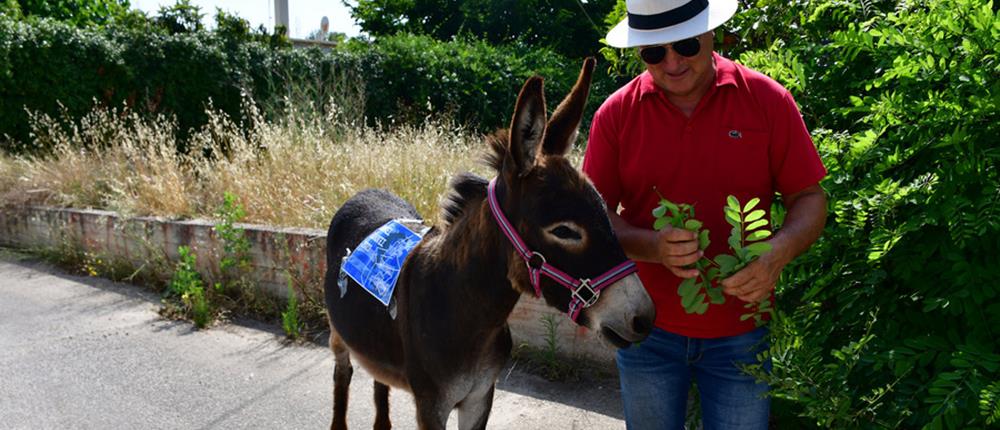
{"label": "pale bright sky above the hedge at top left", "polygon": [[[132,7],[155,15],[160,6],[174,4],[175,0],[131,0]],[[239,15],[250,21],[253,28],[263,24],[274,29],[274,0],[191,0],[201,7],[204,22],[211,27],[215,23],[215,8]],[[350,10],[341,0],[288,0],[289,36],[305,38],[319,29],[320,20],[326,16],[330,20],[330,31],[357,36],[361,29],[351,19]]]}

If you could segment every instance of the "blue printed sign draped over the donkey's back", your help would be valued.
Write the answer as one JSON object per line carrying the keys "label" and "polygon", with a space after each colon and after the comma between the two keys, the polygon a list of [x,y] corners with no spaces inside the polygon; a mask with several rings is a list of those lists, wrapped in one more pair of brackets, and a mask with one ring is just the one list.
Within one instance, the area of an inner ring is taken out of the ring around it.
{"label": "blue printed sign draped over the donkey's back", "polygon": [[403,224],[389,221],[362,240],[340,270],[388,306],[403,262],[420,239]]}

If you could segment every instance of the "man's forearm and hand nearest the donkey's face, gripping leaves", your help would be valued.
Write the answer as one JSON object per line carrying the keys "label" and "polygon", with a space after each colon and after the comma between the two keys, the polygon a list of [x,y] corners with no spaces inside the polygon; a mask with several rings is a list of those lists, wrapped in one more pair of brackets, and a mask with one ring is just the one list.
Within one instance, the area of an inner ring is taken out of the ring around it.
{"label": "man's forearm and hand nearest the donkey's face, gripping leaves", "polygon": [[698,250],[698,237],[691,231],[666,226],[663,230],[639,228],[608,210],[611,226],[629,258],[660,263],[681,278],[698,276],[698,270],[685,269],[703,255]]}

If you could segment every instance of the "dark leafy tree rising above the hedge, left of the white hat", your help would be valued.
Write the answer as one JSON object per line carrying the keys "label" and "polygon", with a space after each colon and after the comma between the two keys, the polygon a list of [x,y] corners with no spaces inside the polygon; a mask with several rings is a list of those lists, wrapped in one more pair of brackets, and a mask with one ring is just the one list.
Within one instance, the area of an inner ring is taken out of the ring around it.
{"label": "dark leafy tree rising above the hedge, left of the white hat", "polygon": [[[346,4],[346,3],[345,3]],[[614,0],[360,0],[351,15],[379,37],[398,32],[438,40],[469,35],[493,44],[521,41],[571,58],[594,55],[600,20]]]}

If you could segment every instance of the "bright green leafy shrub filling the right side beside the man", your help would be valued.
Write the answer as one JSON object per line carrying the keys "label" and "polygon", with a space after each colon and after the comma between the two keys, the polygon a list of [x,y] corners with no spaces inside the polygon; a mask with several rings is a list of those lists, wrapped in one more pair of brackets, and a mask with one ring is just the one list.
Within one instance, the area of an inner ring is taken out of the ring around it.
{"label": "bright green leafy shrub filling the right side beside the man", "polygon": [[776,413],[986,427],[1000,380],[992,3],[760,0],[730,30],[745,35],[734,55],[795,94],[830,171],[824,236],[780,287]]}

